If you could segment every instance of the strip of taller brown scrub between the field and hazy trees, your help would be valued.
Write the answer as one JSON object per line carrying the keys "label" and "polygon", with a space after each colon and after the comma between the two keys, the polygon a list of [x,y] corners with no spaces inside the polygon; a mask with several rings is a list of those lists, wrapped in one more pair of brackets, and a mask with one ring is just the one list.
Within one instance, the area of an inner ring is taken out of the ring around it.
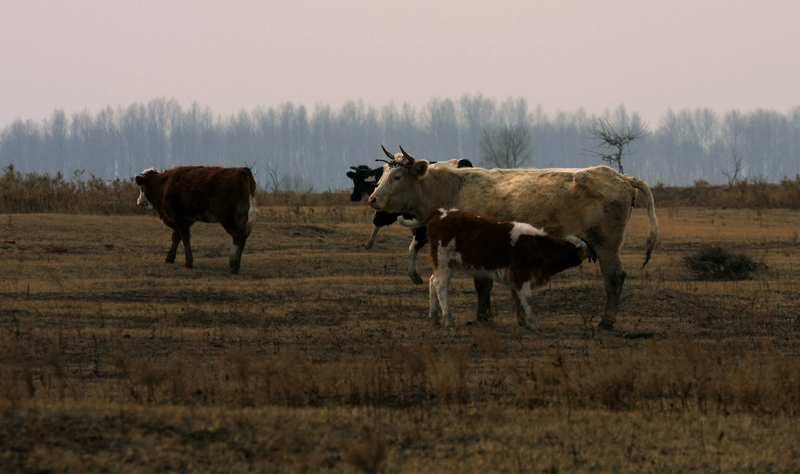
{"label": "strip of taller brown scrub between the field and hazy trees", "polygon": [[[745,179],[731,185],[710,185],[698,181],[693,186],[651,187],[656,210],[669,207],[703,208],[786,208],[800,209],[800,175],[784,178],[780,183]],[[94,175],[75,171],[67,178],[38,173],[21,173],[13,165],[6,166],[0,176],[0,214],[63,213],[135,215],[152,214],[138,207],[139,188],[131,180],[106,181]],[[348,191],[301,193],[292,190],[267,191],[259,188],[259,206],[286,208],[361,206],[351,202]]]}

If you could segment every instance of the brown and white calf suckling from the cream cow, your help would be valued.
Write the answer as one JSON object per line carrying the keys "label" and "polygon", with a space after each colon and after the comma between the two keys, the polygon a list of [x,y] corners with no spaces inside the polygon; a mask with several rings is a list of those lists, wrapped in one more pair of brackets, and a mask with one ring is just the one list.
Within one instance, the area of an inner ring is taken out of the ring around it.
{"label": "brown and white calf suckling from the cream cow", "polygon": [[401,222],[428,227],[433,265],[429,316],[439,325],[441,309],[446,327],[453,326],[448,290],[455,270],[510,286],[523,310],[517,311],[517,323],[535,328],[531,287],[545,285],[556,273],[580,265],[590,252],[573,235],[556,239],[530,224],[455,209],[433,209],[418,220]]}

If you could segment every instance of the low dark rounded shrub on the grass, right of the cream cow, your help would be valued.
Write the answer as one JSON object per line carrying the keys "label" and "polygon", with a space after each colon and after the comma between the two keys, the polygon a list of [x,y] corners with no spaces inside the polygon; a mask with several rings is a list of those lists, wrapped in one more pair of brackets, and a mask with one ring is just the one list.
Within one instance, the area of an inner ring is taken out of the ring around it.
{"label": "low dark rounded shrub on the grass, right of the cream cow", "polygon": [[747,280],[751,274],[767,268],[745,254],[710,245],[684,257],[684,266],[700,280]]}

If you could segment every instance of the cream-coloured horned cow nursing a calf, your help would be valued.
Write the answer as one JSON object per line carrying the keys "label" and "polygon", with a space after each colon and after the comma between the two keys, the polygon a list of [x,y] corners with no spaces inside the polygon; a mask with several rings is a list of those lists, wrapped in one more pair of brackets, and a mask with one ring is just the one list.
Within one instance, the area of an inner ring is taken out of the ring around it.
{"label": "cream-coloured horned cow nursing a calf", "polygon": [[[575,235],[594,251],[606,286],[600,328],[610,329],[625,282],[620,249],[637,190],[647,205],[650,234],[644,263],[658,240],[653,195],[642,180],[607,166],[586,169],[431,168],[402,153],[385,166],[369,198],[376,210],[424,215],[434,208],[457,208],[484,216],[526,222],[556,238]],[[492,281],[475,279],[478,318],[491,317]]]}

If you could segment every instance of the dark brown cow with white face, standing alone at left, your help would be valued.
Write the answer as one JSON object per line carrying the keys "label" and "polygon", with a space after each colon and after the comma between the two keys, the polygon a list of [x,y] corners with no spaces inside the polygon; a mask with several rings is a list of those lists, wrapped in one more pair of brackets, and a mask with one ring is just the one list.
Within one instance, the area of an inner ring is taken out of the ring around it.
{"label": "dark brown cow with white face, standing alone at left", "polygon": [[159,173],[154,168],[135,178],[140,206],[151,206],[158,219],[172,229],[167,263],[175,262],[183,242],[186,268],[192,268],[191,235],[195,222],[218,222],[233,237],[231,273],[239,273],[242,250],[256,215],[256,182],[249,168],[182,166]]}

